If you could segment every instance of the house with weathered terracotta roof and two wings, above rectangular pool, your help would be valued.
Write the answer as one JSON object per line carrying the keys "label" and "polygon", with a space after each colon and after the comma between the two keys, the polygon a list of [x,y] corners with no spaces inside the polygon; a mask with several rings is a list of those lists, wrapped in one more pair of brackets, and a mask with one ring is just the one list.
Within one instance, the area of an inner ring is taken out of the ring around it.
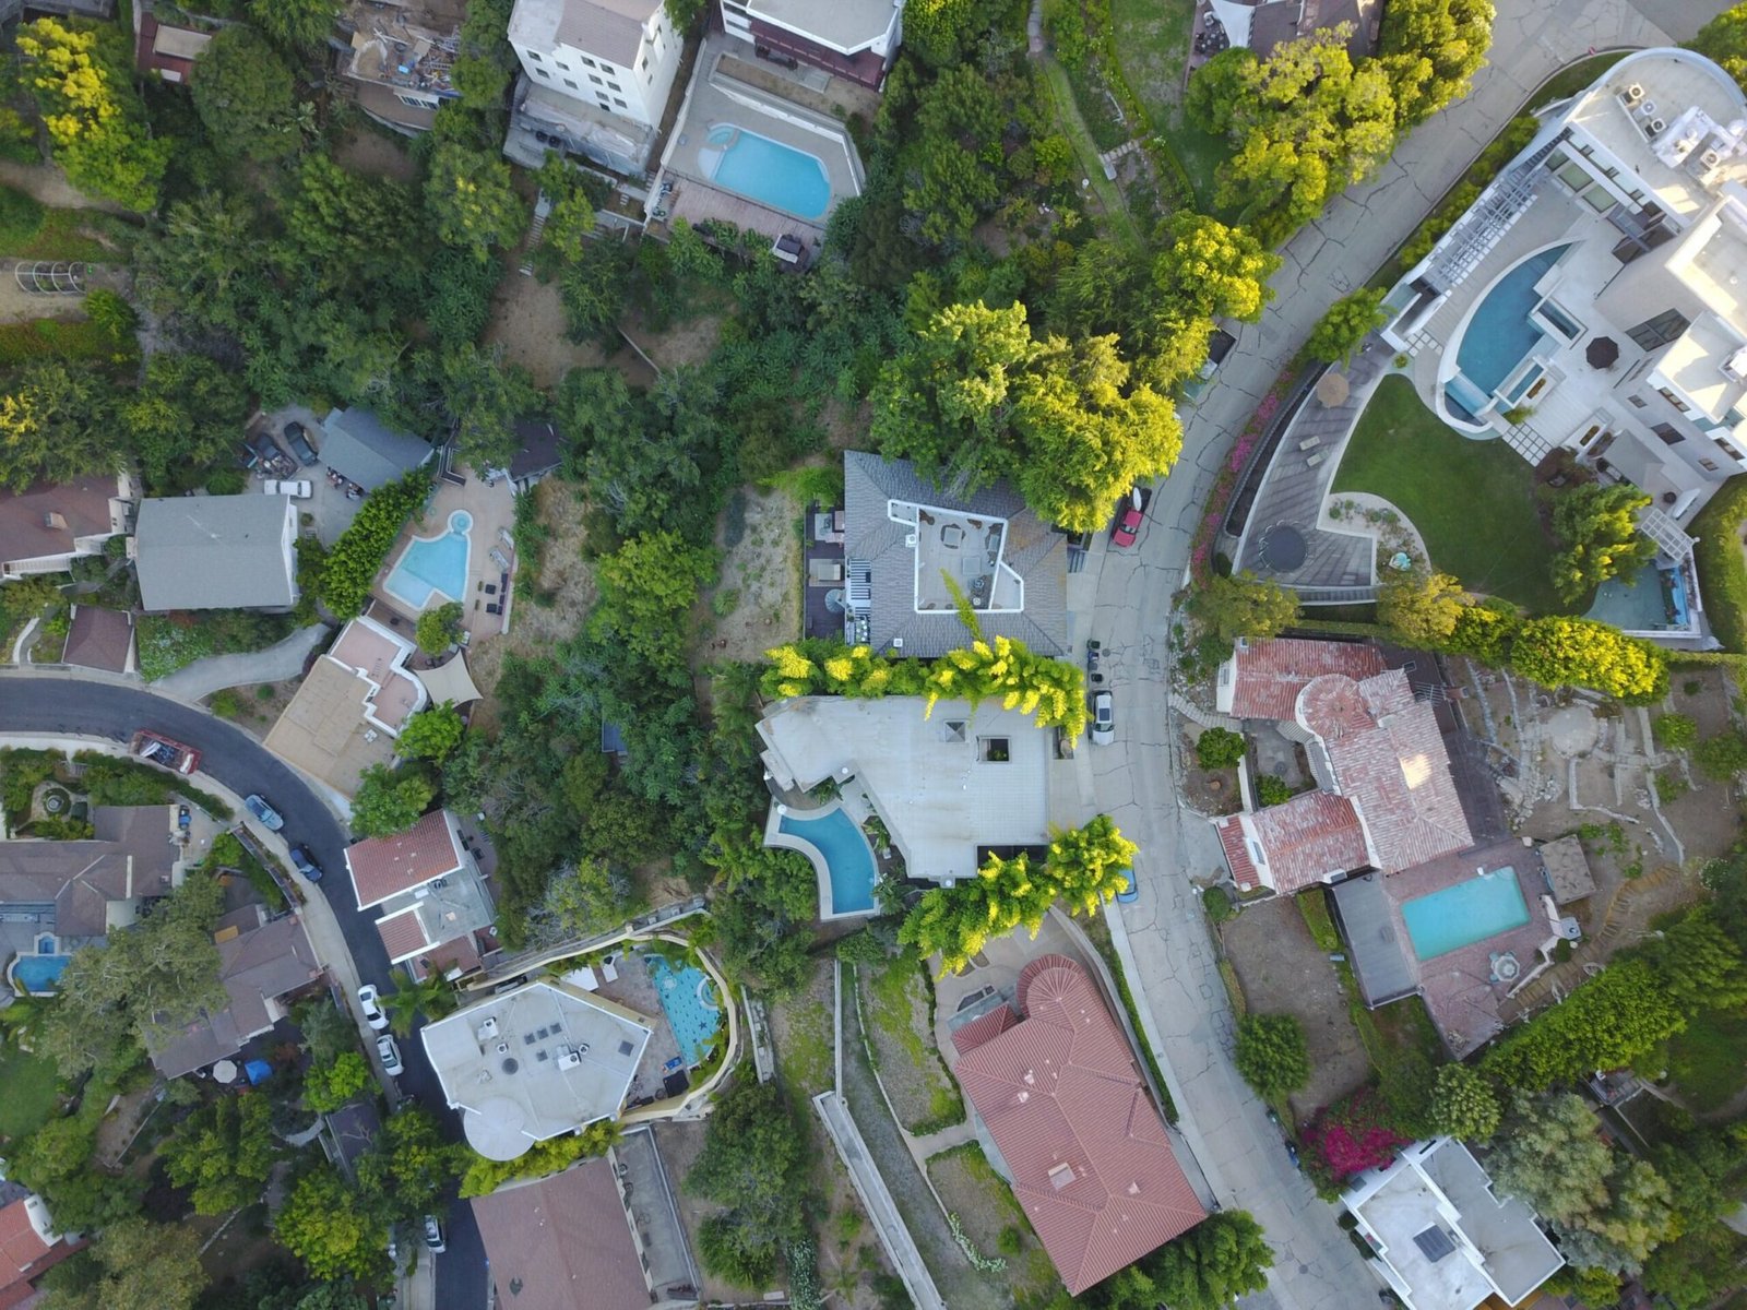
{"label": "house with weathered terracotta roof and two wings, above rectangular pool", "polygon": [[1239,643],[1219,667],[1221,713],[1272,720],[1303,746],[1312,791],[1214,819],[1240,891],[1295,893],[1474,845],[1429,702],[1371,646]]}

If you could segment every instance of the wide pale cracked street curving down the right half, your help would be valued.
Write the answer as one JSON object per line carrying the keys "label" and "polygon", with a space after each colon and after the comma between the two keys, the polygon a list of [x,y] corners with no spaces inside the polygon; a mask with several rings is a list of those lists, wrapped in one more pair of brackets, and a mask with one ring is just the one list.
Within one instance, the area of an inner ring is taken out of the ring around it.
{"label": "wide pale cracked street curving down the right half", "polygon": [[1116,907],[1111,933],[1183,1135],[1219,1202],[1251,1210],[1274,1247],[1268,1291],[1246,1298],[1247,1310],[1352,1310],[1371,1303],[1380,1284],[1232,1067],[1232,1010],[1190,882],[1209,880],[1223,861],[1211,826],[1176,803],[1167,704],[1170,599],[1183,585],[1190,538],[1232,437],[1324,309],[1370,279],[1541,82],[1592,47],[1688,40],[1721,9],[1719,0],[1499,0],[1492,63],[1473,93],[1422,124],[1377,178],[1286,245],[1275,300],[1260,323],[1242,327],[1214,386],[1184,414],[1183,459],[1155,491],[1137,548],[1104,554],[1097,603],[1080,636],[1104,641],[1118,739],[1090,748],[1090,769],[1097,807],[1141,845],[1141,898]]}

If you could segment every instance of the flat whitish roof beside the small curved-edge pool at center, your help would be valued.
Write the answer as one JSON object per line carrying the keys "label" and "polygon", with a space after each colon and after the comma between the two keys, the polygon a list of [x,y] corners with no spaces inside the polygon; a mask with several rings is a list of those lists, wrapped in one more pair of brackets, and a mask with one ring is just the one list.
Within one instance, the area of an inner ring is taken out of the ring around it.
{"label": "flat whitish roof beside the small curved-edge pool at center", "polygon": [[[758,725],[772,776],[812,788],[853,774],[868,793],[910,877],[964,879],[980,845],[1048,840],[1048,762],[1055,735],[999,700],[975,713],[922,697],[797,697]],[[1005,742],[1006,760],[991,758]]]}

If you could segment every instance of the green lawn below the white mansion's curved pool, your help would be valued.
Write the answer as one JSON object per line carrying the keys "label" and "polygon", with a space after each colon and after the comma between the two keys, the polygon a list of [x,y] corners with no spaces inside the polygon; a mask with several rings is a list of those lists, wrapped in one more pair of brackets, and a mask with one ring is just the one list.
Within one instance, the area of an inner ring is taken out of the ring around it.
{"label": "green lawn below the white mansion's curved pool", "polygon": [[1336,493],[1368,491],[1419,527],[1431,561],[1464,585],[1530,613],[1565,613],[1548,576],[1550,541],[1529,463],[1502,440],[1469,440],[1385,377],[1335,475]]}

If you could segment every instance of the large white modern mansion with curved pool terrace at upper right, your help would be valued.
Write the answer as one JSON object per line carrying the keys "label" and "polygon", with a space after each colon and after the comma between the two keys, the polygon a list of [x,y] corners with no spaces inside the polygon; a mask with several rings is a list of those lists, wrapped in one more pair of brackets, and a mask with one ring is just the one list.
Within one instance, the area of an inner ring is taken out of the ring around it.
{"label": "large white modern mansion with curved pool terrace at upper right", "polygon": [[1735,79],[1635,51],[1546,114],[1384,300],[1382,335],[1445,423],[1653,498],[1639,526],[1663,578],[1640,590],[1665,596],[1628,631],[1693,627],[1679,524],[1747,468],[1744,182]]}

